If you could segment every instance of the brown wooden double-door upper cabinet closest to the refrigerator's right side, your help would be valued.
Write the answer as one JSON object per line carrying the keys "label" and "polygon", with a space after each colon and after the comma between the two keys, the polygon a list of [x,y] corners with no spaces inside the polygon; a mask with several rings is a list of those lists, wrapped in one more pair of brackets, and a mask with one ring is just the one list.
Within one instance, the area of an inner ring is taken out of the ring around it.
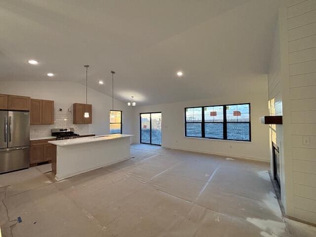
{"label": "brown wooden double-door upper cabinet closest to the refrigerator's right side", "polygon": [[31,125],[54,124],[54,101],[31,99]]}

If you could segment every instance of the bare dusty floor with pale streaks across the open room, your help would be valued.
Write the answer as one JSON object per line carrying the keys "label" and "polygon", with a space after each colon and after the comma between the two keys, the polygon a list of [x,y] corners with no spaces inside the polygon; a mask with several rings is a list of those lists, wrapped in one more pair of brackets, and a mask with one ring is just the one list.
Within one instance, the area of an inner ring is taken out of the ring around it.
{"label": "bare dusty floor with pale streaks across the open room", "polygon": [[148,145],[131,156],[61,182],[46,166],[0,175],[2,236],[316,236],[282,218],[268,163]]}

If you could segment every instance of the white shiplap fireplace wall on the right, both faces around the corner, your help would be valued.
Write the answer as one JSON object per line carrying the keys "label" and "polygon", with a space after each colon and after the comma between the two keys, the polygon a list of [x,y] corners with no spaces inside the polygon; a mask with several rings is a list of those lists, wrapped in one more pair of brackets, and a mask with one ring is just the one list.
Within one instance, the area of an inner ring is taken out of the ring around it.
{"label": "white shiplap fireplace wall on the right, both faces around the corner", "polygon": [[316,0],[280,2],[269,99],[275,99],[275,114],[283,116],[275,134],[282,146],[281,197],[288,216],[315,224]]}

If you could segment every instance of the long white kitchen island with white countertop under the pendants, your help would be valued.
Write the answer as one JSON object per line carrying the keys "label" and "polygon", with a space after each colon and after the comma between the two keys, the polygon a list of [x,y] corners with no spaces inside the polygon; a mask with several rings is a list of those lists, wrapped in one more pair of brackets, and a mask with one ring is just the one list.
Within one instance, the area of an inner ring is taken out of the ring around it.
{"label": "long white kitchen island with white countertop under the pendants", "polygon": [[52,160],[55,179],[59,181],[129,159],[131,136],[112,134],[49,141],[57,147],[56,160]]}

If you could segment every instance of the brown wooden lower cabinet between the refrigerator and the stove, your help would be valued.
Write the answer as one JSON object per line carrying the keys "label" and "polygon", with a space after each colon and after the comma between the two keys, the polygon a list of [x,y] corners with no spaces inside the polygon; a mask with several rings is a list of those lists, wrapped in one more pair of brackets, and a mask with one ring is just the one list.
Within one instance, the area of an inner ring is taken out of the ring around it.
{"label": "brown wooden lower cabinet between the refrigerator and the stove", "polygon": [[56,139],[35,140],[30,142],[30,164],[56,159],[56,146],[48,143]]}

